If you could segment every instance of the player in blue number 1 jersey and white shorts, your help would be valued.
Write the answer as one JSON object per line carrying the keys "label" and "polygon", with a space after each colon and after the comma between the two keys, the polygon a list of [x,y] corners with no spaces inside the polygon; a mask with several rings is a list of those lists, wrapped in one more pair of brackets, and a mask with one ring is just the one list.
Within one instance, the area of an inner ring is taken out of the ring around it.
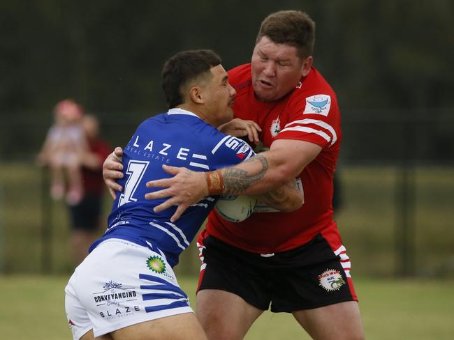
{"label": "player in blue number 1 jersey and white shorts", "polygon": [[[119,180],[124,190],[115,195],[107,231],[91,245],[66,286],[74,339],[206,339],[173,267],[223,185],[216,176],[207,178],[210,196],[173,223],[176,208],[154,212],[165,199],[145,199],[145,183],[170,177],[163,164],[216,171],[248,161],[254,151],[217,130],[224,124],[230,124],[230,130],[247,130],[249,124],[230,122],[235,90],[217,54],[176,54],[164,65],[162,84],[169,111],[141,123],[124,148],[124,176]],[[302,204],[293,183],[258,198],[286,211]]]}

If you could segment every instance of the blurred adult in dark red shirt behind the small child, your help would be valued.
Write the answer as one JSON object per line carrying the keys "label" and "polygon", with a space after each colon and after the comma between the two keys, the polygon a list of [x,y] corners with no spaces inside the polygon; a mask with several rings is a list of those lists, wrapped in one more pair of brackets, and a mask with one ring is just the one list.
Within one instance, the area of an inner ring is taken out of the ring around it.
{"label": "blurred adult in dark red shirt behind the small child", "polygon": [[91,243],[98,237],[97,231],[102,223],[104,192],[102,165],[111,152],[110,145],[98,137],[99,122],[95,116],[84,115],[81,125],[88,141],[89,152],[80,159],[83,196],[78,203],[68,205],[74,265],[82,262]]}

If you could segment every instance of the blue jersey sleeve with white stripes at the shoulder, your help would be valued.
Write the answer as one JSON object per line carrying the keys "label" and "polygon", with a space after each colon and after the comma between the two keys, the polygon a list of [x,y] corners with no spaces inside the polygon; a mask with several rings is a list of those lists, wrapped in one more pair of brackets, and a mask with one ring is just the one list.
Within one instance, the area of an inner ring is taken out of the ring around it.
{"label": "blue jersey sleeve with white stripes at the shoulder", "polygon": [[221,132],[212,136],[209,146],[207,154],[210,155],[212,170],[231,167],[255,155],[254,150],[245,141]]}

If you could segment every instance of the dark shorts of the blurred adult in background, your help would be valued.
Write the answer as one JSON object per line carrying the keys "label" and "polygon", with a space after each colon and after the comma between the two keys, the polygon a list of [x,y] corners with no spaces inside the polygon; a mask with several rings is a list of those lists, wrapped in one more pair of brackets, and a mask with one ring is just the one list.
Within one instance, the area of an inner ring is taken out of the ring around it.
{"label": "dark shorts of the blurred adult in background", "polygon": [[74,206],[68,206],[71,215],[71,227],[75,230],[96,231],[101,223],[102,197],[85,194]]}

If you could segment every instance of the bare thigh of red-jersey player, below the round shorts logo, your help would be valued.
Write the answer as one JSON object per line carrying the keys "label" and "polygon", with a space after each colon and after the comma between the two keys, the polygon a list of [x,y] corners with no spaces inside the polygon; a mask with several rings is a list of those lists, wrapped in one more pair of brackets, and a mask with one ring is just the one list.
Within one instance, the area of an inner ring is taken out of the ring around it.
{"label": "bare thigh of red-jersey player, below the round shorts logo", "polygon": [[356,301],[339,302],[314,309],[293,311],[292,314],[314,339],[364,339],[360,309]]}

